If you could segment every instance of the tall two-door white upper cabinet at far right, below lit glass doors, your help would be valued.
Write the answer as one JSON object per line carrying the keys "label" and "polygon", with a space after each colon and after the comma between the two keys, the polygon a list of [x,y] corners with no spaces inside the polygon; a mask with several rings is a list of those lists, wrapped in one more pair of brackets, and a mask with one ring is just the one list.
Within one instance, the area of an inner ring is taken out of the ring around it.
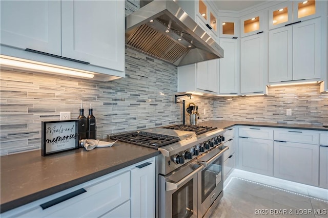
{"label": "tall two-door white upper cabinet at far right, below lit glass doors", "polygon": [[321,77],[321,18],[269,32],[269,83]]}

